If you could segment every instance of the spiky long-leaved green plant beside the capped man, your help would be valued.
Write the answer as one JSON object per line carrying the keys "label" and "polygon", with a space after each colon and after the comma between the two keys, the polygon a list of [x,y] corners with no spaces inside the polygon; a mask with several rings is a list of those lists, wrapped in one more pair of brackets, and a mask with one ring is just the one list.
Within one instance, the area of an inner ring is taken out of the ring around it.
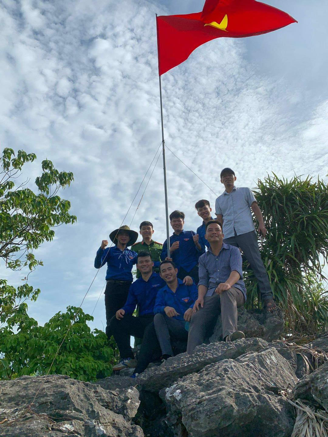
{"label": "spiky long-leaved green plant beside the capped man", "polygon": [[[311,177],[287,180],[272,174],[258,180],[254,194],[269,231],[259,240],[262,260],[275,299],[285,309],[287,330],[310,333],[323,328],[328,321],[327,294],[318,284],[325,279],[322,260],[328,261],[327,184]],[[247,305],[252,307],[259,304],[258,283],[247,263],[244,268]],[[307,323],[309,293],[314,298],[318,290],[318,318],[314,324]]]}

